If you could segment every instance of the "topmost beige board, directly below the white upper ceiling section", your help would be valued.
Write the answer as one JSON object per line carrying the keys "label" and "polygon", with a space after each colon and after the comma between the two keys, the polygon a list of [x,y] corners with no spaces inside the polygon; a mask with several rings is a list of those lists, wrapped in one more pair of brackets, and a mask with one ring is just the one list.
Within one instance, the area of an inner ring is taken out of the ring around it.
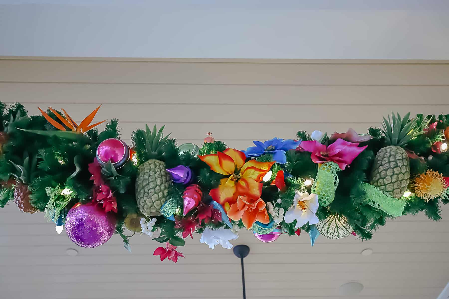
{"label": "topmost beige board, directly below the white upper ceiling section", "polygon": [[449,64],[0,60],[4,82],[448,85]]}

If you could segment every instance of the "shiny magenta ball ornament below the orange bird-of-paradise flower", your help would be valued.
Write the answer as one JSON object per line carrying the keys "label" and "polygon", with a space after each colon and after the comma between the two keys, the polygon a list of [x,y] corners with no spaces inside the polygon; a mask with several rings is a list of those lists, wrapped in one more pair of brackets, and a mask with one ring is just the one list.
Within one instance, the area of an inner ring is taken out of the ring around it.
{"label": "shiny magenta ball ornament below the orange bird-of-paradise flower", "polygon": [[109,138],[97,147],[97,161],[105,166],[110,160],[115,169],[119,169],[129,160],[128,144],[117,138]]}

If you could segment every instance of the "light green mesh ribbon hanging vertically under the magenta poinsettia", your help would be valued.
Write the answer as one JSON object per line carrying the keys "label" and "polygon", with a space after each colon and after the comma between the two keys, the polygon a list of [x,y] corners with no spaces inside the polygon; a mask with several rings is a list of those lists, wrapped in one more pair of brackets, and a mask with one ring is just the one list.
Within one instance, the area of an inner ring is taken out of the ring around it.
{"label": "light green mesh ribbon hanging vertically under the magenta poinsettia", "polygon": [[318,168],[317,177],[313,182],[312,193],[318,195],[321,206],[327,207],[335,198],[335,190],[338,186],[337,171],[341,170],[337,163],[326,162]]}

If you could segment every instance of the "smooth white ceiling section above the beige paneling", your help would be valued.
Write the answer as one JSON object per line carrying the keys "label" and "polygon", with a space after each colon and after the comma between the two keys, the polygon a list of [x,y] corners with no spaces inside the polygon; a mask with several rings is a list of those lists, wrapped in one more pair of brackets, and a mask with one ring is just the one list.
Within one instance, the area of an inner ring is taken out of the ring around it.
{"label": "smooth white ceiling section above the beige paneling", "polygon": [[0,55],[448,59],[449,2],[0,0]]}

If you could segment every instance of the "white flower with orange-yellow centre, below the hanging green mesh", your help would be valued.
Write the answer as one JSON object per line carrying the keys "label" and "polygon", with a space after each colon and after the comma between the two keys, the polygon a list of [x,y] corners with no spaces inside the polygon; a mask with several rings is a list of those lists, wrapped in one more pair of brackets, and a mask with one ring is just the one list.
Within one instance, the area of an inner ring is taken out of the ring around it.
{"label": "white flower with orange-yellow centre, below the hanging green mesh", "polygon": [[316,215],[318,210],[318,195],[308,194],[307,192],[295,191],[293,205],[285,213],[284,221],[291,223],[296,220],[296,228],[302,227],[307,222],[317,224],[319,219]]}

